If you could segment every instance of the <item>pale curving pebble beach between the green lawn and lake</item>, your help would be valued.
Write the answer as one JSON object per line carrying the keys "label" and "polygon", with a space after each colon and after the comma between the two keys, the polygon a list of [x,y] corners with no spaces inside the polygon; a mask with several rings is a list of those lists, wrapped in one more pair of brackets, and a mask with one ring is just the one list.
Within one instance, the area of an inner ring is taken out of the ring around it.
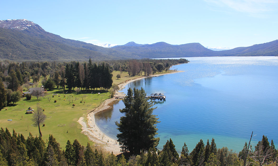
{"label": "pale curving pebble beach between the green lawn and lake", "polygon": [[[170,73],[165,73],[165,74],[174,74],[174,73],[178,73],[178,72],[184,72],[184,71],[173,71]],[[147,78],[147,77],[159,77],[165,74],[156,74],[156,75],[151,75],[151,76],[142,76],[139,78],[135,78],[135,79],[130,79],[127,80],[125,82],[122,82],[120,84],[118,84],[120,90],[122,90],[127,84],[129,84],[130,82],[133,81],[137,81],[143,78]],[[84,122],[83,120],[85,118],[80,117],[78,120],[78,123],[82,126],[82,131],[81,133],[85,134],[86,136],[88,136],[88,138],[95,142],[98,145],[102,145],[103,149],[105,149],[108,152],[113,152],[115,155],[121,154],[121,148],[119,143],[115,140],[110,138],[109,136],[107,136],[105,133],[103,133],[100,128],[98,128],[98,126],[96,125],[95,122],[95,114],[106,110],[108,108],[111,108],[108,104],[116,101],[116,100],[121,100],[121,99],[116,99],[115,96],[118,97],[125,97],[125,94],[123,92],[116,92],[113,98],[108,98],[106,99],[103,103],[100,104],[99,107],[95,108],[95,110],[91,110],[90,113],[88,113],[87,115],[87,123]]]}

